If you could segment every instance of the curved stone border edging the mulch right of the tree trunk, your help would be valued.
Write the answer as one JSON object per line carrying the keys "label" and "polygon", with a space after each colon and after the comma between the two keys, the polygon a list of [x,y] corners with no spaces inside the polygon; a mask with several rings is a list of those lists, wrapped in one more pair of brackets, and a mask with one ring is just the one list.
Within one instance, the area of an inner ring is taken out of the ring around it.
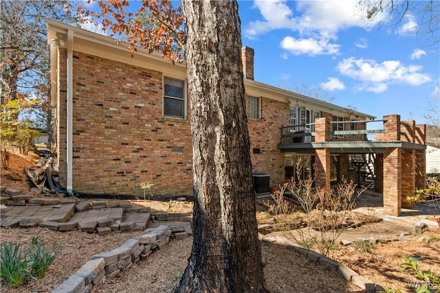
{"label": "curved stone border edging the mulch right of the tree trunk", "polygon": [[369,279],[360,276],[360,274],[358,274],[354,270],[351,270],[351,268],[349,268],[348,266],[345,266],[342,263],[338,263],[338,261],[330,259],[329,257],[317,253],[316,251],[309,250],[307,248],[299,246],[298,244],[294,244],[283,236],[265,237],[263,240],[284,245],[287,247],[287,249],[294,250],[297,253],[305,255],[311,261],[320,263],[330,270],[335,270],[336,272],[338,272],[338,274],[344,277],[344,279],[353,283],[353,285],[358,286],[362,290],[365,290],[367,293],[375,293],[384,290],[381,285],[377,285],[373,281],[370,281]]}

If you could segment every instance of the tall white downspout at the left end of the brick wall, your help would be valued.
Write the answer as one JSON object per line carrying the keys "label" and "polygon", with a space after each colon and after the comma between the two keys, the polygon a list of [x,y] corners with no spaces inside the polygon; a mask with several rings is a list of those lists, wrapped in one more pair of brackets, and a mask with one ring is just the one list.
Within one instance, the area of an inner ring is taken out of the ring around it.
{"label": "tall white downspout at the left end of the brick wall", "polygon": [[72,176],[73,176],[73,123],[74,123],[74,32],[67,30],[67,192],[72,192]]}

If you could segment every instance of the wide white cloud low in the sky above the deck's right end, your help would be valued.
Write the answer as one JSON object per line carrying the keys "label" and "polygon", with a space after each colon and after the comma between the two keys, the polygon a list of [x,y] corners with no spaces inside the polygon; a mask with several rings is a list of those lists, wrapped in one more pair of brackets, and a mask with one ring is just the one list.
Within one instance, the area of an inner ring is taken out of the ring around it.
{"label": "wide white cloud low in the sky above the deck's right end", "polygon": [[359,89],[375,93],[386,91],[389,84],[418,86],[431,80],[428,74],[419,72],[423,69],[421,66],[405,66],[396,60],[377,63],[376,60],[351,57],[339,62],[337,69],[341,74],[361,82],[362,86],[359,86]]}

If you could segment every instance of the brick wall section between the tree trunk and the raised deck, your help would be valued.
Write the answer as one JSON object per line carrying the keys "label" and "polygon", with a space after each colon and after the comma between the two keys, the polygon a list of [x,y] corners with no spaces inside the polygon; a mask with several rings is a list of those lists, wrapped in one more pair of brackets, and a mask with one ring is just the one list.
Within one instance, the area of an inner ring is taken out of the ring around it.
{"label": "brick wall section between the tree trunk and the raised deck", "polygon": [[[280,127],[289,123],[290,108],[286,102],[261,97],[261,118],[248,119],[252,172],[270,174],[270,184],[284,183],[284,154],[278,150]],[[260,154],[253,150],[259,149]]]}

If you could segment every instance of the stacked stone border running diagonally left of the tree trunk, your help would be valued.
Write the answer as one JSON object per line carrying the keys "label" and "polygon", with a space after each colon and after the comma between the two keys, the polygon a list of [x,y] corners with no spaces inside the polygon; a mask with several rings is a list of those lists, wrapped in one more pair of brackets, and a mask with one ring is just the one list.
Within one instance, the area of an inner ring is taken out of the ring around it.
{"label": "stacked stone border running diagonally left of the tree trunk", "polygon": [[[128,239],[118,248],[94,255],[52,293],[88,293],[105,279],[116,277],[133,263],[146,259],[151,253],[170,242],[171,228],[165,225],[147,228],[146,234]],[[179,234],[175,233],[179,239]]]}

